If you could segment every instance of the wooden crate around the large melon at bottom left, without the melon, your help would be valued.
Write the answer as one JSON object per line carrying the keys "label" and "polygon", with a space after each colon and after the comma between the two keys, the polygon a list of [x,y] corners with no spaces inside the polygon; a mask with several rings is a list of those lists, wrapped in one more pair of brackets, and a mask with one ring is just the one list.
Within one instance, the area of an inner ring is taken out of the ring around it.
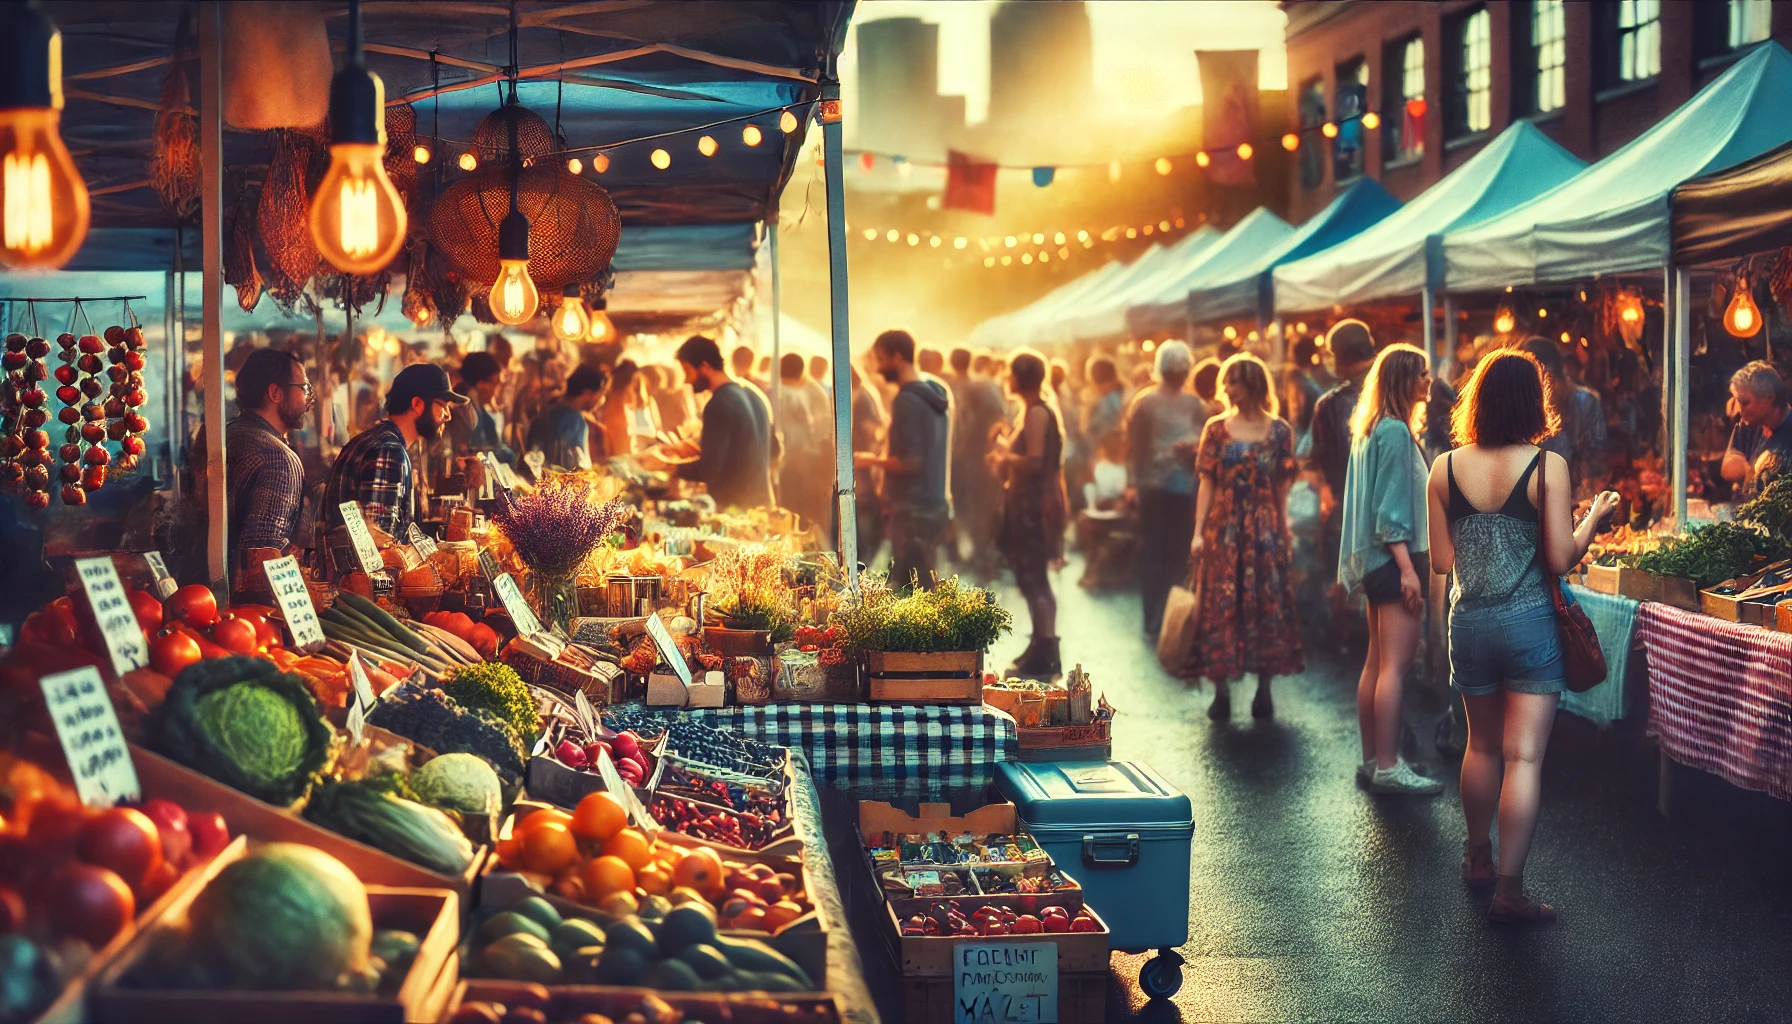
{"label": "wooden crate around the large melon at bottom left, without the melon", "polygon": [[[398,992],[247,992],[163,990],[122,985],[151,949],[185,920],[186,907],[224,866],[244,855],[237,845],[208,866],[204,879],[181,893],[156,927],[145,929],[99,976],[93,994],[97,1024],[410,1024],[437,1020],[459,981],[461,897],[452,889],[367,886],[373,927],[403,929],[419,940],[418,956]],[[353,868],[353,864],[349,864]]]}

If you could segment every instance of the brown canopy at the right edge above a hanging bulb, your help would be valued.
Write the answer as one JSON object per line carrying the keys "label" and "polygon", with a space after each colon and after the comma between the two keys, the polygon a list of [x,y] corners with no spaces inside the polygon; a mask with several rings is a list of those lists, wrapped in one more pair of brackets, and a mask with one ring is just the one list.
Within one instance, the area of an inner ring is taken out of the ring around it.
{"label": "brown canopy at the right edge above a hanging bulb", "polygon": [[1740,260],[1792,246],[1792,142],[1674,190],[1674,262]]}

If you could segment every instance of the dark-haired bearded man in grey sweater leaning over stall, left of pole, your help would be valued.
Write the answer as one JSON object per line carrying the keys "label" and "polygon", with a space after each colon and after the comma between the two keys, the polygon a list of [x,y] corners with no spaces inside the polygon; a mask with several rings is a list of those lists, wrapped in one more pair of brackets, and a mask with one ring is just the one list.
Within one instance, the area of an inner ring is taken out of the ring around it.
{"label": "dark-haired bearded man in grey sweater leaning over stall, left of pole", "polygon": [[695,335],[677,348],[677,364],[694,395],[710,393],[697,443],[668,445],[667,457],[695,457],[677,464],[677,475],[710,488],[720,508],[772,508],[772,409],[758,387],[742,384],[722,366],[713,339]]}

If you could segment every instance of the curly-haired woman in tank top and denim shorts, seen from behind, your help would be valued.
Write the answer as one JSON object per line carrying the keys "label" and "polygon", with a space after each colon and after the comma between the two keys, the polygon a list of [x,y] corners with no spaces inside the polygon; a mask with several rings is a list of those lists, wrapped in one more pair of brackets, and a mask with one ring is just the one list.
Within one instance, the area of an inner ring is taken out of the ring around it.
{"label": "curly-haired woman in tank top and denim shorts, seen from behind", "polygon": [[[1468,708],[1462,753],[1462,877],[1495,884],[1495,922],[1555,920],[1525,897],[1525,857],[1538,829],[1543,751],[1563,689],[1561,631],[1548,586],[1581,561],[1595,527],[1618,502],[1606,491],[1579,527],[1568,464],[1538,448],[1557,429],[1555,404],[1536,357],[1520,350],[1480,360],[1457,402],[1459,445],[1432,464],[1432,572],[1450,585],[1450,685]],[[1548,504],[1538,509],[1538,473]],[[1539,551],[1539,524],[1548,543]],[[1491,827],[1500,821],[1495,868]]]}

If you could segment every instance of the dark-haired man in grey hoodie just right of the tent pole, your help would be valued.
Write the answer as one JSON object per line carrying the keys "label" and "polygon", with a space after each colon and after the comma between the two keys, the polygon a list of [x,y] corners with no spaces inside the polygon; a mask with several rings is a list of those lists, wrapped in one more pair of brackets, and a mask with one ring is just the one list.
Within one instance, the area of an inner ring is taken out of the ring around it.
{"label": "dark-haired man in grey hoodie just right of the tent pole", "polygon": [[871,346],[876,371],[896,384],[887,454],[853,452],[858,468],[883,470],[891,586],[934,585],[939,540],[952,522],[952,391],[914,366],[914,337],[885,330]]}

